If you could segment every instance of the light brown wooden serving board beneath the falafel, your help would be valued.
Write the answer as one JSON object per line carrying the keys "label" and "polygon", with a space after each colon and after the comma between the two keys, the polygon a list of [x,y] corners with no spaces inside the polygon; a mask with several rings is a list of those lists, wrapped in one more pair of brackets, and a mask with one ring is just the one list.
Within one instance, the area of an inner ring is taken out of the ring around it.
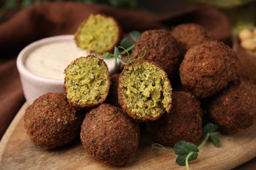
{"label": "light brown wooden serving board beneath the falafel", "polygon": [[[142,133],[133,161],[125,167],[110,167],[87,155],[79,139],[53,150],[43,150],[26,135],[23,127],[25,103],[0,143],[0,169],[186,169],[175,163],[173,152],[156,150],[149,135]],[[232,169],[256,156],[256,124],[236,135],[221,135],[221,146],[205,144],[190,169]]]}

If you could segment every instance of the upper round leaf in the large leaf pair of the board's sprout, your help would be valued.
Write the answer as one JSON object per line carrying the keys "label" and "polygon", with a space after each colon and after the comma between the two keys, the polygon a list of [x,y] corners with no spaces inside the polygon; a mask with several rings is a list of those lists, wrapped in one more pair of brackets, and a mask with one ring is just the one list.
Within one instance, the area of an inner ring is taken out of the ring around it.
{"label": "upper round leaf in the large leaf pair of the board's sprout", "polygon": [[199,152],[198,146],[194,143],[188,143],[186,141],[180,141],[175,144],[174,152],[177,155],[189,154],[190,152]]}

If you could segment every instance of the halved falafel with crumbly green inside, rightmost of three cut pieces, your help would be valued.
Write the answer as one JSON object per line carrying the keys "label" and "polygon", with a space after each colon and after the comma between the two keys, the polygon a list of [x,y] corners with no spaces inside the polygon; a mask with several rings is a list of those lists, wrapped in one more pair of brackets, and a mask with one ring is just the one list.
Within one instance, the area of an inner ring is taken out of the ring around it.
{"label": "halved falafel with crumbly green inside, rightmost of three cut pieces", "polygon": [[146,122],[171,110],[171,83],[156,63],[127,63],[119,76],[118,103],[133,119]]}

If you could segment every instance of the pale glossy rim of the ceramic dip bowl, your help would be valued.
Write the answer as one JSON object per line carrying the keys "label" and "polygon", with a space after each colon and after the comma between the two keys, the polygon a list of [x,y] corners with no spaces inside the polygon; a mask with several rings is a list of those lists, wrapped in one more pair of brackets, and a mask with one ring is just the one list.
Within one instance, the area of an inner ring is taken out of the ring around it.
{"label": "pale glossy rim of the ceramic dip bowl", "polygon": [[28,58],[28,54],[32,52],[35,48],[38,48],[39,46],[43,46],[44,44],[49,44],[49,43],[59,42],[59,41],[72,41],[73,39],[74,39],[74,35],[56,35],[53,37],[46,37],[43,39],[39,39],[37,41],[34,41],[28,44],[25,48],[23,48],[20,51],[16,59],[16,66],[18,68],[18,71],[20,72],[20,75],[26,76],[27,78],[31,78],[41,83],[64,84],[64,79],[61,80],[61,79],[54,79],[54,78],[45,78],[43,76],[38,76],[28,71],[28,69],[25,66],[25,60],[26,58]]}

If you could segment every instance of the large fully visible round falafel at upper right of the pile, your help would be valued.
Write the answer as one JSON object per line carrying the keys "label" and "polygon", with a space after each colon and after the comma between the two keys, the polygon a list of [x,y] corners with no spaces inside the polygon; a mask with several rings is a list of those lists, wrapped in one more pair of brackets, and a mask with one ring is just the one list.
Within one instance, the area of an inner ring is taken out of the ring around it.
{"label": "large fully visible round falafel at upper right of the pile", "polygon": [[190,48],[180,65],[182,86],[198,98],[219,92],[238,79],[240,61],[220,41],[205,41]]}

